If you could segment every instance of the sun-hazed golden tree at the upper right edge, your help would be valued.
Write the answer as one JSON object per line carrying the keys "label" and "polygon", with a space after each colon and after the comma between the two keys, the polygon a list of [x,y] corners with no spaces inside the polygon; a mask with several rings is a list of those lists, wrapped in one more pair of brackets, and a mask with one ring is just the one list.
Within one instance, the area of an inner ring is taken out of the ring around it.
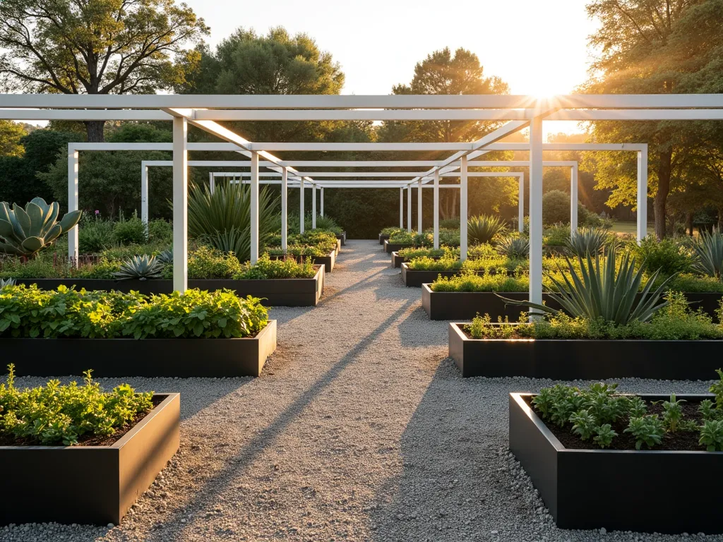
{"label": "sun-hazed golden tree at the upper right edge", "polygon": [[[601,25],[590,38],[600,54],[591,64],[587,93],[720,93],[723,0],[594,0],[590,17]],[[690,180],[690,137],[706,122],[596,122],[595,142],[649,144],[649,188],[654,194],[656,236],[666,235],[668,195]],[[720,144],[720,142],[719,142]],[[632,162],[615,155],[596,158],[596,178],[612,189],[608,205],[635,205]]]}

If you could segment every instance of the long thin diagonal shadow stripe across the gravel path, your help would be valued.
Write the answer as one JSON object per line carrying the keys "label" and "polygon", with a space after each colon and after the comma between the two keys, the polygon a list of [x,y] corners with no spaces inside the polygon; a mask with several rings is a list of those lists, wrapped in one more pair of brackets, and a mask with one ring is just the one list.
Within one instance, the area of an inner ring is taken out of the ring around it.
{"label": "long thin diagonal shadow stripe across the gravel path", "polygon": [[[349,350],[337,364],[323,374],[322,377],[315,382],[315,384],[302,393],[299,398],[294,401],[294,403],[291,403],[291,405],[286,408],[286,410],[283,410],[275,421],[270,423],[266,429],[254,436],[254,438],[246,444],[245,447],[239,450],[237,455],[229,457],[226,461],[225,467],[218,473],[215,473],[215,476],[208,478],[208,480],[205,481],[204,486],[197,489],[194,493],[192,501],[184,504],[183,514],[189,515],[189,512],[201,511],[204,509],[204,503],[213,502],[213,499],[218,497],[218,494],[223,493],[224,489],[226,489],[226,483],[233,483],[234,479],[240,476],[244,470],[247,470],[249,465],[256,460],[257,457],[262,455],[268,447],[272,446],[275,439],[283,433],[286,427],[292,423],[296,417],[309,406],[310,403],[312,403],[315,397],[320,395],[326,387],[332,384],[344,371],[344,369],[356,360],[357,356],[369,348],[380,333],[386,330],[399,317],[401,317],[408,310],[410,304],[411,302],[408,302],[399,307],[399,309],[394,311],[393,314],[390,314],[384,322],[377,326],[375,330],[372,330],[366,337],[359,340],[359,343]],[[173,517],[168,517],[165,520],[164,524],[174,532],[167,534],[164,533],[162,538],[164,542],[182,542],[187,540],[187,536],[184,535],[184,533],[186,533],[187,529],[192,530],[194,528],[193,524],[184,526],[180,523],[180,520],[181,516],[178,514]]]}

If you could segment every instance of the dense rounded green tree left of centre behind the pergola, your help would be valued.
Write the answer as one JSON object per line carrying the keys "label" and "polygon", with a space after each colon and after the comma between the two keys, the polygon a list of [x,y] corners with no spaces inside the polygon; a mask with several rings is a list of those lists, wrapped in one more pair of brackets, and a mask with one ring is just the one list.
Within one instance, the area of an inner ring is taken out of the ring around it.
{"label": "dense rounded green tree left of centre behind the pergola", "polygon": [[[197,70],[176,85],[179,94],[338,94],[344,86],[341,66],[313,38],[288,34],[283,27],[257,35],[239,28],[215,52],[200,46]],[[323,122],[231,122],[252,141],[315,141],[335,124]]]}

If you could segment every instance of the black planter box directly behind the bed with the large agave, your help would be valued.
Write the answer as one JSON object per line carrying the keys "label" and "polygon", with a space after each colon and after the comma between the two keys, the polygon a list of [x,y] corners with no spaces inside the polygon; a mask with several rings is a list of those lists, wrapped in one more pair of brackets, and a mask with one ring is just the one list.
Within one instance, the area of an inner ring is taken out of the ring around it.
{"label": "black planter box directly behind the bed with the large agave", "polygon": [[[408,281],[411,280],[413,282],[411,285],[414,286],[414,282],[416,282],[414,274],[422,272],[432,273],[432,271],[407,271],[405,284],[409,286]],[[404,270],[402,270],[402,279],[404,280],[404,278]],[[436,279],[435,276],[426,282],[431,283]],[[434,292],[431,287],[431,284],[422,284],[422,307],[430,320],[471,320],[479,313],[489,314],[492,322],[497,322],[497,317],[502,317],[502,319],[508,317],[510,322],[517,322],[520,312],[524,310],[524,307],[521,306],[505,306],[505,301],[492,292]],[[716,309],[723,294],[685,292],[684,295],[692,309],[701,307],[704,312],[713,317],[714,322],[718,321]],[[524,301],[529,298],[527,292],[501,292],[500,296],[516,301]],[[560,309],[560,306],[552,301],[548,294],[543,293],[542,300],[553,309]]]}

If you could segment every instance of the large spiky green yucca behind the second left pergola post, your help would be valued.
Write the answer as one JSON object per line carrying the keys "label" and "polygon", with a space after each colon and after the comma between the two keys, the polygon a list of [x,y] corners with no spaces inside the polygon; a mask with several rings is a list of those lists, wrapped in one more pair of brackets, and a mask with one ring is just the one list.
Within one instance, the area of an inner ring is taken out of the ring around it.
{"label": "large spiky green yucca behind the second left pergola post", "polygon": [[[278,198],[266,187],[259,191],[259,249],[273,233]],[[245,184],[192,185],[188,197],[189,236],[221,251],[233,250],[241,262],[251,256],[251,190]]]}

